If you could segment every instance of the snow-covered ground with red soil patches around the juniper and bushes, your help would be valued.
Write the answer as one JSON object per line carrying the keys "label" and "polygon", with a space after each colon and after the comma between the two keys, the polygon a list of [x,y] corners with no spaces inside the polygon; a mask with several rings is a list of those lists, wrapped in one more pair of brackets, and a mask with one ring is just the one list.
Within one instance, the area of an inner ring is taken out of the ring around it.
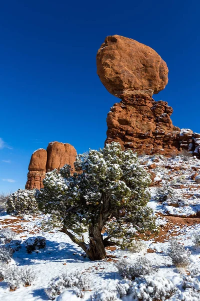
{"label": "snow-covered ground with red soil patches around the juniper and bushes", "polygon": [[[41,230],[42,215],[37,217],[24,216],[14,217],[5,213],[0,216],[0,229],[10,228],[17,233],[16,239],[21,241],[21,248],[14,252],[11,262],[7,266],[28,266],[36,274],[36,279],[32,285],[21,286],[14,291],[10,291],[6,281],[0,282],[0,300],[3,301],[39,301],[48,300],[45,288],[49,285],[51,278],[61,275],[64,272],[78,272],[88,277],[89,288],[85,291],[83,298],[78,297],[72,289],[63,289],[55,300],[75,301],[75,300],[92,300],[111,301],[111,300],[144,300],[133,298],[132,295],[117,296],[117,298],[103,296],[107,290],[112,292],[116,289],[121,276],[118,273],[116,262],[120,258],[129,258],[133,263],[138,262],[140,257],[150,260],[151,264],[156,266],[152,271],[152,277],[158,279],[169,279],[179,290],[174,292],[168,298],[175,301],[198,301],[200,300],[200,285],[195,282],[195,288],[183,288],[183,275],[193,275],[196,281],[200,281],[200,249],[194,246],[193,235],[200,232],[200,218],[197,212],[200,211],[200,184],[191,180],[191,175],[200,171],[200,161],[190,158],[188,161],[180,157],[164,158],[159,157],[153,162],[154,158],[143,156],[140,158],[145,169],[151,170],[157,179],[161,179],[159,186],[171,185],[177,192],[180,200],[177,206],[167,202],[160,203],[155,200],[155,189],[151,187],[151,201],[148,203],[154,213],[158,216],[157,224],[160,225],[159,233],[150,236],[143,236],[146,248],[139,253],[131,253],[127,250],[113,249],[107,250],[106,260],[90,261],[84,256],[81,248],[77,247],[67,235],[54,230],[45,233]],[[155,163],[156,167],[149,169],[148,166]],[[184,177],[183,177],[184,176]],[[197,216],[196,216],[197,214]],[[28,237],[43,236],[46,238],[46,246],[38,251],[28,254],[22,243]],[[189,257],[190,265],[186,268],[176,268],[168,256],[169,241],[178,240],[185,248],[191,252]],[[164,280],[165,281],[165,280]],[[161,284],[160,284],[161,285]],[[199,290],[198,290],[199,289]],[[101,294],[95,297],[94,292],[100,291]],[[197,294],[195,292],[198,292]],[[183,293],[181,295],[181,293]],[[158,299],[145,300],[158,301]]]}

